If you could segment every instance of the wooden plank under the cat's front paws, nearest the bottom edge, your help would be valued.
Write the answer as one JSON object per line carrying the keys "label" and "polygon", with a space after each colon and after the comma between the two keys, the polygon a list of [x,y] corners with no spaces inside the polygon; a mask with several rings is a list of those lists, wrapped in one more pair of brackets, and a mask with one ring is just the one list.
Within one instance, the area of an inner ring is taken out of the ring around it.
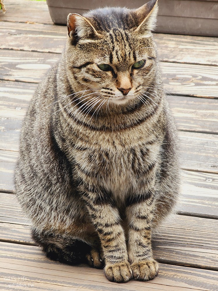
{"label": "wooden plank under the cat's front paws, nearest the bottom edge", "polygon": [[[151,291],[212,291],[218,288],[218,273],[216,271],[160,264],[159,274],[152,281],[132,280],[125,284],[116,284],[107,281],[102,270],[92,269],[86,265],[68,266],[51,262],[35,246],[5,242],[1,242],[0,246],[1,276],[3,278],[12,277],[15,282],[19,281],[18,277],[24,276],[27,283],[62,285],[62,290],[65,290],[65,286],[99,291],[142,291],[145,287]],[[4,280],[3,283],[5,283]]]}

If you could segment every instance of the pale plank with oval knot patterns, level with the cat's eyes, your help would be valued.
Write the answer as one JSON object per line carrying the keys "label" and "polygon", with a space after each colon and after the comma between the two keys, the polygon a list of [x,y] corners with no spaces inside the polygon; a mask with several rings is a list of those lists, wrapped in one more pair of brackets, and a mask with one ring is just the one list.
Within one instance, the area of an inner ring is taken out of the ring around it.
{"label": "pale plank with oval knot patterns, level with the cat's eyes", "polygon": [[[59,54],[1,50],[0,79],[38,83]],[[165,90],[170,94],[218,98],[218,67],[160,63]]]}

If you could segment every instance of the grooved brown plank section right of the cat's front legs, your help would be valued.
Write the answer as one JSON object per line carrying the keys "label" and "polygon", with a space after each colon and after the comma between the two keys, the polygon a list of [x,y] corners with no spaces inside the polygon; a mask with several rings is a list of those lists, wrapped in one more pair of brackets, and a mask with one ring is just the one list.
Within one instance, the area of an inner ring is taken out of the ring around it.
{"label": "grooved brown plank section right of the cat's front legs", "polygon": [[217,228],[214,219],[172,216],[154,235],[155,256],[160,262],[218,270]]}

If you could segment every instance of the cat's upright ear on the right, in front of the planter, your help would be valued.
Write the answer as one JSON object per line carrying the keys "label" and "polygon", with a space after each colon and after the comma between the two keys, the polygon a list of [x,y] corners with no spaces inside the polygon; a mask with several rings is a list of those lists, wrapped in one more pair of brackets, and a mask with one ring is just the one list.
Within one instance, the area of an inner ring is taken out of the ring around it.
{"label": "cat's upright ear on the right, in front of the planter", "polygon": [[143,34],[155,28],[158,14],[158,0],[151,0],[135,10],[138,27],[135,31]]}

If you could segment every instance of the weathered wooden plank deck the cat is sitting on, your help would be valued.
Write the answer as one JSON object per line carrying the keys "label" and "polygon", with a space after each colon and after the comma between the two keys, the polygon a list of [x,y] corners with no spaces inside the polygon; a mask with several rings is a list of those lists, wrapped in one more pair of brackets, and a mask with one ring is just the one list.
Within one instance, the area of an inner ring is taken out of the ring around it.
{"label": "weathered wooden plank deck the cat is sitting on", "polygon": [[[110,283],[102,270],[45,258],[13,194],[22,119],[67,29],[45,2],[5,1],[0,13],[0,290],[218,290],[218,39],[156,34],[165,89],[181,139],[178,214],[153,239],[160,262],[148,282]],[[147,288],[147,289],[144,289]]]}

